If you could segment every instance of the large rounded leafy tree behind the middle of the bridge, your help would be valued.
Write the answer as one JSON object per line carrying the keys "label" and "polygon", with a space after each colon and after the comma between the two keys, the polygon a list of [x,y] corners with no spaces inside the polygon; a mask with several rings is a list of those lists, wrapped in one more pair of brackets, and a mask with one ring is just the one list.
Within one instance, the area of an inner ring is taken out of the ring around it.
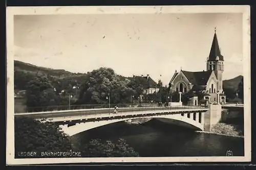
{"label": "large rounded leafy tree behind the middle of the bridge", "polygon": [[80,87],[79,104],[106,104],[109,95],[111,103],[129,102],[135,90],[126,85],[111,68],[88,72],[88,79]]}

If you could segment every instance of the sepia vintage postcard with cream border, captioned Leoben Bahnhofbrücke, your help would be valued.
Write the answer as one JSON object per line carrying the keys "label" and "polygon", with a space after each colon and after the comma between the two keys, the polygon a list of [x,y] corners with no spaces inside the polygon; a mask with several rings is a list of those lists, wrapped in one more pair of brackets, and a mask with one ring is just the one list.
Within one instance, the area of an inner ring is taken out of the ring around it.
{"label": "sepia vintage postcard with cream border, captioned Leoben Bahnhofbr\u00fccke", "polygon": [[7,8],[6,163],[248,162],[249,6]]}

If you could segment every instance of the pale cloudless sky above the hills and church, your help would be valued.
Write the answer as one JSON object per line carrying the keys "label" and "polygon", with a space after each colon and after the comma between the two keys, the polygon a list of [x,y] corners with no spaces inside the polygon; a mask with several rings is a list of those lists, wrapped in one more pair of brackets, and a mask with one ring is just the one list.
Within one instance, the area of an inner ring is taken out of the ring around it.
{"label": "pale cloudless sky above the hills and church", "polygon": [[111,67],[166,85],[175,70],[206,70],[215,27],[223,79],[243,75],[239,13],[16,15],[14,59],[81,73]]}

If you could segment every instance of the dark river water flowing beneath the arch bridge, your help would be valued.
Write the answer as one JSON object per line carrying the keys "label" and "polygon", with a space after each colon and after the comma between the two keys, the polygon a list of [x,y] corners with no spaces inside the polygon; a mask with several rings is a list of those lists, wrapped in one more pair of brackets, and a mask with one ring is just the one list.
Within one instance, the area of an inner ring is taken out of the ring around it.
{"label": "dark river water flowing beneath the arch bridge", "polygon": [[91,139],[116,141],[123,138],[140,157],[244,156],[244,138],[207,134],[182,129],[152,119],[144,124],[118,122],[72,136],[73,146],[81,150]]}

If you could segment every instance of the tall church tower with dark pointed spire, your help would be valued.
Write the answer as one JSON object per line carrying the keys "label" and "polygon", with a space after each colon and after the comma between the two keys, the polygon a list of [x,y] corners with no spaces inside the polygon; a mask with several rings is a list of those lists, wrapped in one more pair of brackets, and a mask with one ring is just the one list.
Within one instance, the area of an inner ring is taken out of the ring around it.
{"label": "tall church tower with dark pointed spire", "polygon": [[218,79],[217,82],[217,91],[222,92],[222,73],[224,71],[224,58],[221,55],[217,34],[216,34],[216,28],[215,28],[215,34],[214,39],[212,40],[211,48],[210,48],[210,54],[207,58],[207,70],[213,70],[215,72],[215,75]]}

